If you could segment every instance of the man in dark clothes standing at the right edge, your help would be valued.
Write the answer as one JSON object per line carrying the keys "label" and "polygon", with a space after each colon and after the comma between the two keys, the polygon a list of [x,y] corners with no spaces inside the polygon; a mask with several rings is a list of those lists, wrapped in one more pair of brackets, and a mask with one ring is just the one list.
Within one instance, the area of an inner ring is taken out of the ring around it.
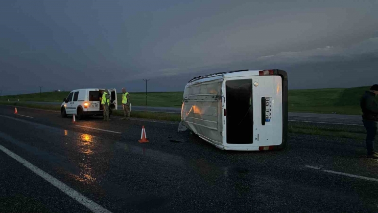
{"label": "man in dark clothes standing at the right edge", "polygon": [[374,84],[361,98],[362,121],[366,128],[367,157],[378,159],[378,153],[374,152],[374,139],[378,129],[378,84]]}

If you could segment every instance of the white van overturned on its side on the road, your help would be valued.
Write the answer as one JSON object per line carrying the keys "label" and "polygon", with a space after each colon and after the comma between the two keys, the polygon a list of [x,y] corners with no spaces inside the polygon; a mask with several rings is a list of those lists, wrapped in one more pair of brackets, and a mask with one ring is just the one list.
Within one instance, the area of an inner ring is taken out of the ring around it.
{"label": "white van overturned on its side on the road", "polygon": [[179,131],[186,128],[222,150],[285,148],[287,73],[238,70],[190,80],[184,90]]}

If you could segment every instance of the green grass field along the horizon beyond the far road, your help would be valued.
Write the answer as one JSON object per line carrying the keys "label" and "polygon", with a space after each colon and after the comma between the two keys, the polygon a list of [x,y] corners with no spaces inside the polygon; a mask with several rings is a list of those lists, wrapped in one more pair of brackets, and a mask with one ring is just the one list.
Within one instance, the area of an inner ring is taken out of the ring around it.
{"label": "green grass field along the horizon beyond the far road", "polygon": [[[369,87],[334,88],[313,90],[289,90],[289,111],[309,113],[333,113],[361,115],[360,97]],[[62,102],[69,92],[46,92],[3,96],[11,101],[51,101]],[[135,106],[146,105],[146,93],[130,93]],[[181,107],[183,92],[148,93],[148,105],[153,107]],[[121,100],[121,94],[117,94]],[[120,101],[119,101],[120,102]]]}

